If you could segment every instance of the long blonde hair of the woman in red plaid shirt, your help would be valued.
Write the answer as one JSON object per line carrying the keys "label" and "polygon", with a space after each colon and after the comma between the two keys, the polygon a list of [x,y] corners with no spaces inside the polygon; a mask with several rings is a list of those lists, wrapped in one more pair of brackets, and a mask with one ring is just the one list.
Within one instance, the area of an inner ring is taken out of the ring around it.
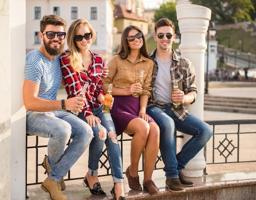
{"label": "long blonde hair of the woman in red plaid shirt", "polygon": [[74,20],[67,31],[67,47],[69,49],[69,60],[70,66],[73,68],[74,71],[80,72],[83,71],[83,62],[82,56],[79,48],[76,45],[74,37],[76,36],[77,30],[82,27],[88,27],[90,32],[92,32],[92,43],[96,40],[96,32],[92,28],[91,24],[85,19],[78,19]]}

